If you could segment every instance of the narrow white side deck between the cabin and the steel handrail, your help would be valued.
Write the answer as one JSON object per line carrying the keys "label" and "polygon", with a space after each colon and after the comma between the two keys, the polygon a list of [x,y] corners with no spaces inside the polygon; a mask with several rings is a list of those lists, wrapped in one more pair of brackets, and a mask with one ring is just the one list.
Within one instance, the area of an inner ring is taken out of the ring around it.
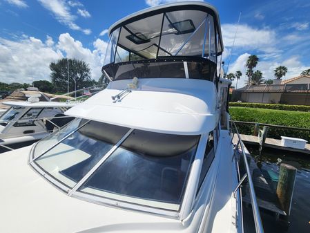
{"label": "narrow white side deck between the cabin and the steel handrail", "polygon": [[[209,224],[207,232],[240,232],[236,223],[236,200],[233,198],[233,190],[238,184],[235,162],[232,161],[233,149],[229,132],[220,132],[220,163],[217,171],[217,180],[213,193],[213,201],[209,212]],[[240,221],[238,219],[237,221]]]}

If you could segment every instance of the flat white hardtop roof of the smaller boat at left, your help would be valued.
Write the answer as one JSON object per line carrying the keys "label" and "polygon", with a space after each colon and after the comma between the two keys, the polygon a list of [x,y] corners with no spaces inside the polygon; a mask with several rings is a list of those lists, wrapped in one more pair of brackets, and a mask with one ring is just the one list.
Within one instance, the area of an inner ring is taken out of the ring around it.
{"label": "flat white hardtop roof of the smaller boat at left", "polygon": [[2,104],[8,105],[8,106],[23,106],[23,107],[36,107],[36,108],[43,108],[43,107],[72,107],[75,106],[75,103],[68,103],[68,102],[46,102],[46,101],[40,101],[40,102],[21,102],[21,101],[8,101],[8,102],[2,102]]}

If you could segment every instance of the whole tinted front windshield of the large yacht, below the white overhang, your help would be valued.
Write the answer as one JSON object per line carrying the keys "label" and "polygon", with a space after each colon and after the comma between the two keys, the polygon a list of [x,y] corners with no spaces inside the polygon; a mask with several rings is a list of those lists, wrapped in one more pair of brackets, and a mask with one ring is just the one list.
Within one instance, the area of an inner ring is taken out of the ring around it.
{"label": "whole tinted front windshield of the large yacht, below the white overhang", "polygon": [[35,163],[77,192],[177,211],[200,136],[129,130],[75,120],[38,142]]}

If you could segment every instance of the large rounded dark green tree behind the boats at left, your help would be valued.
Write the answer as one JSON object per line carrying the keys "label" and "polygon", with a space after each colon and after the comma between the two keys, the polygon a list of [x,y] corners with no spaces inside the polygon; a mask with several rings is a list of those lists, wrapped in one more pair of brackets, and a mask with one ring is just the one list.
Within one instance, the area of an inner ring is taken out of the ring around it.
{"label": "large rounded dark green tree behind the boats at left", "polygon": [[86,62],[77,59],[62,58],[50,63],[50,77],[54,91],[66,93],[69,75],[69,91],[93,86],[95,80],[90,79],[90,68]]}

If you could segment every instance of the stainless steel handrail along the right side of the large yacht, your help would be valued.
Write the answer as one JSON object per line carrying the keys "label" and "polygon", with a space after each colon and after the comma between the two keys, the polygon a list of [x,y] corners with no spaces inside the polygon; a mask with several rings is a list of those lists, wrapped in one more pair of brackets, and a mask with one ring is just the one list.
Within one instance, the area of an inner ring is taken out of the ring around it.
{"label": "stainless steel handrail along the right side of the large yacht", "polygon": [[[256,201],[256,195],[255,195],[255,190],[254,190],[254,185],[253,185],[253,180],[252,180],[252,176],[251,176],[251,171],[249,168],[249,164],[248,164],[248,160],[246,160],[246,154],[244,152],[244,144],[241,140],[239,131],[235,125],[235,122],[231,121],[231,134],[232,134],[232,140],[231,142],[233,143],[233,137],[235,136],[235,133],[237,133],[238,136],[238,142],[235,146],[235,151],[233,153],[233,158],[235,158],[235,153],[236,151],[239,149],[239,145],[240,145],[240,149],[241,149],[241,153],[242,153],[242,157],[244,159],[244,166],[246,169],[246,174],[244,174],[244,176],[247,176],[247,180],[249,183],[249,189],[250,189],[250,196],[251,196],[251,204],[252,204],[252,209],[253,209],[253,217],[254,217],[254,223],[255,223],[255,231],[257,233],[264,233],[264,228],[262,226],[262,219],[260,218],[260,209],[258,208],[258,203]],[[245,180],[245,177],[243,177],[240,182],[238,183],[237,187],[235,188],[235,191],[233,192],[233,194],[235,194],[235,192],[238,191],[238,189],[240,189],[242,182]],[[242,197],[240,197],[242,198]]]}

